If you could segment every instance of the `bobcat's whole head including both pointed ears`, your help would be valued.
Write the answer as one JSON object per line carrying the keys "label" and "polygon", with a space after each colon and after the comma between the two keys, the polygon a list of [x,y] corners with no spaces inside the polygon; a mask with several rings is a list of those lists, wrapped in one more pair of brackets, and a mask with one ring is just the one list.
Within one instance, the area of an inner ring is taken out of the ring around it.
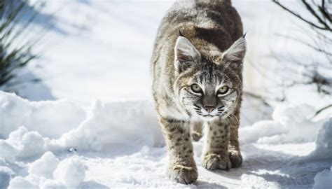
{"label": "bobcat's whole head including both pointed ears", "polygon": [[174,47],[177,76],[173,88],[188,114],[209,121],[233,113],[242,93],[245,51],[244,36],[213,57],[202,55],[187,38],[177,38]]}

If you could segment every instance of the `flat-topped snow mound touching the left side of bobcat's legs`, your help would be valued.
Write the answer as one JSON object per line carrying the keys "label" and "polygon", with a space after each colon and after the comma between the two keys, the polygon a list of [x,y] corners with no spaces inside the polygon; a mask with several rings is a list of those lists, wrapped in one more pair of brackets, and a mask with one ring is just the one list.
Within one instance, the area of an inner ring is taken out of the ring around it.
{"label": "flat-topped snow mound touching the left side of bobcat's legs", "polygon": [[[87,118],[61,137],[60,145],[83,151],[110,151],[121,144],[160,146],[162,134],[151,102],[113,102],[93,104]],[[139,147],[140,148],[140,147]]]}

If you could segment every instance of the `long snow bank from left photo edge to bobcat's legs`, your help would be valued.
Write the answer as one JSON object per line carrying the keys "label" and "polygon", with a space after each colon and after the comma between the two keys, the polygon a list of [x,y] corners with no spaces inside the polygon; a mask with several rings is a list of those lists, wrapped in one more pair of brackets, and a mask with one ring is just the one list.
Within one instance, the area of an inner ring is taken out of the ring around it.
{"label": "long snow bank from left photo edge to bobcat's legs", "polygon": [[15,94],[0,95],[0,136],[8,137],[0,139],[0,158],[8,161],[68,148],[111,151],[118,145],[139,149],[164,143],[151,102],[97,101],[83,118],[83,108],[71,102],[29,102]]}

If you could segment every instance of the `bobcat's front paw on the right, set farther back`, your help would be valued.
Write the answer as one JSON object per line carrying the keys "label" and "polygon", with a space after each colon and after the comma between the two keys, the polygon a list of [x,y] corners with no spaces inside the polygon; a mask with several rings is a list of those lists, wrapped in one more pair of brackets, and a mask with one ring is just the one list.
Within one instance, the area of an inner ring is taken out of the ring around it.
{"label": "bobcat's front paw on the right, set farther back", "polygon": [[228,170],[232,167],[232,164],[228,158],[228,156],[217,155],[217,154],[209,154],[205,155],[202,161],[202,166],[205,169],[215,170],[222,169]]}

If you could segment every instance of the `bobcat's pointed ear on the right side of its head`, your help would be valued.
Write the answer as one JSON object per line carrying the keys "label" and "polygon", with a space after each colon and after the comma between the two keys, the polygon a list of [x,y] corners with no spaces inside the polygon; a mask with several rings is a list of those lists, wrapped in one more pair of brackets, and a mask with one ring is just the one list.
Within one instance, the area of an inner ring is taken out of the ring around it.
{"label": "bobcat's pointed ear on the right side of its head", "polygon": [[238,62],[242,63],[244,59],[244,55],[246,54],[247,50],[247,42],[245,34],[244,36],[240,37],[233,43],[233,45],[228,48],[225,52],[223,52],[223,55],[221,59],[225,62]]}

